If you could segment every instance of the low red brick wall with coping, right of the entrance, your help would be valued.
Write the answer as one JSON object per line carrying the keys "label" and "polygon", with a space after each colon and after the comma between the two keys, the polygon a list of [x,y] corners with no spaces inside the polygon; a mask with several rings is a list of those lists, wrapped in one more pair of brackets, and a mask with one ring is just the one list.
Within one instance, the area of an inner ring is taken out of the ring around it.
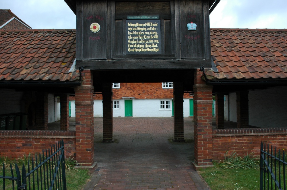
{"label": "low red brick wall with coping, right of the entrance", "polygon": [[216,129],[212,135],[212,159],[223,160],[226,151],[239,156],[260,155],[261,141],[277,149],[287,148],[287,128]]}

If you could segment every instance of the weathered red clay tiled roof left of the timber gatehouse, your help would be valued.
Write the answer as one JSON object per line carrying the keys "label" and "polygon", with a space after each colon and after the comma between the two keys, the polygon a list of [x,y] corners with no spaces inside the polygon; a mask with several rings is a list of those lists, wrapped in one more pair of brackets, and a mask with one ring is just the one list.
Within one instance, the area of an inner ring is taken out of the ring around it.
{"label": "weathered red clay tiled roof left of the timber gatehouse", "polygon": [[0,82],[74,81],[75,30],[0,30]]}

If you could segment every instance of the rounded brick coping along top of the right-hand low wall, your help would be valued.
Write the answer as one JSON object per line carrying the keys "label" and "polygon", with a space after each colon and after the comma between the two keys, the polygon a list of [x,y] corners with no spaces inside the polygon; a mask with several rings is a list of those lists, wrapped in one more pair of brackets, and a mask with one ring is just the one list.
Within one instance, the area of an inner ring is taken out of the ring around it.
{"label": "rounded brick coping along top of the right-hand low wall", "polygon": [[287,134],[287,128],[233,128],[215,129],[212,136]]}

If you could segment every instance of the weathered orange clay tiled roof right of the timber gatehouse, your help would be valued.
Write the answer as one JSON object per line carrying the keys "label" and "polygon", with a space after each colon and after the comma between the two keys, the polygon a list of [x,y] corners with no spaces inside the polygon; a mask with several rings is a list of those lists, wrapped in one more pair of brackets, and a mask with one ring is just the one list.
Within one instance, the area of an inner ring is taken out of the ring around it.
{"label": "weathered orange clay tiled roof right of the timber gatehouse", "polygon": [[210,80],[287,79],[287,29],[210,29]]}

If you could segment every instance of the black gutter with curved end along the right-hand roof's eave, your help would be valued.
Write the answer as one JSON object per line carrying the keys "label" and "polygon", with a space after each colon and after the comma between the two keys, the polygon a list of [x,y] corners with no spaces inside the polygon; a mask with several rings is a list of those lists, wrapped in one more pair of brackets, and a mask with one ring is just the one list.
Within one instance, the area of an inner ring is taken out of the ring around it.
{"label": "black gutter with curved end along the right-hand roof's eave", "polygon": [[209,80],[204,72],[204,67],[199,68],[201,72],[203,72],[203,76],[205,78],[205,84],[212,84],[212,85],[268,85],[268,84],[279,84],[279,85],[287,85],[287,81],[280,82],[280,81],[240,81],[240,82],[222,82],[222,81],[211,81]]}

